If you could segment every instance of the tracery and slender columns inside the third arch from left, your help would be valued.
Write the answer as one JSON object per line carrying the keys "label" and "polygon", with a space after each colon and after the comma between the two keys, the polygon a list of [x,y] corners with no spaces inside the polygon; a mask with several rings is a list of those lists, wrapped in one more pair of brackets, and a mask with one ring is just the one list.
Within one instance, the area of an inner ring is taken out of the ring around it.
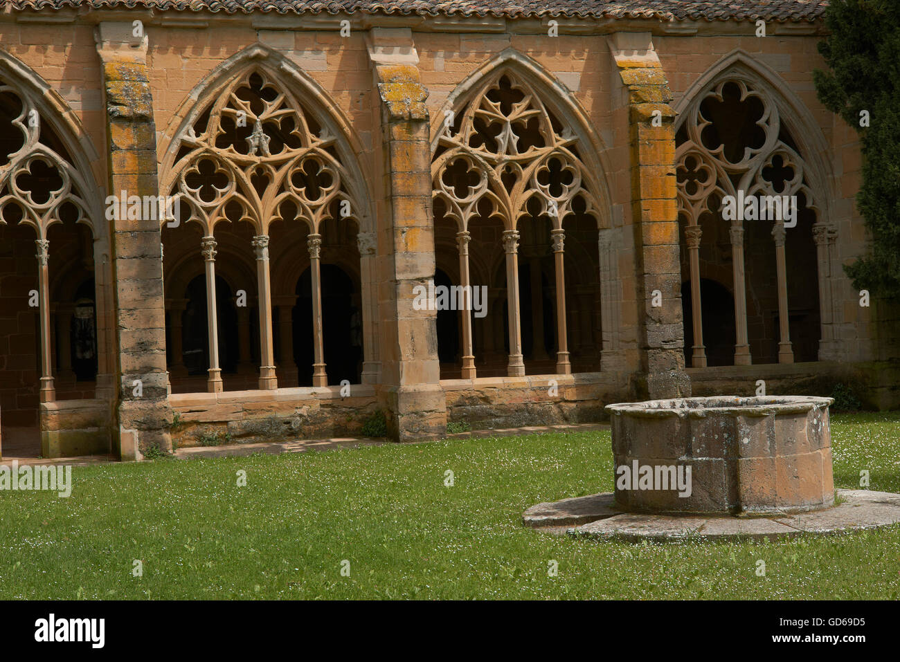
{"label": "tracery and slender columns inside the third arch from left", "polygon": [[[521,219],[549,221],[555,271],[556,372],[572,371],[567,346],[563,220],[599,222],[599,185],[585,165],[579,134],[557,117],[525,76],[500,67],[448,112],[432,157],[432,196],[456,224],[460,285],[470,283],[470,223],[499,219],[508,283],[508,374],[525,374],[519,311],[518,245]],[[602,253],[602,247],[601,247]],[[601,261],[603,255],[600,256]],[[608,319],[611,319],[608,318]],[[476,377],[472,315],[463,317],[462,376]]]}

